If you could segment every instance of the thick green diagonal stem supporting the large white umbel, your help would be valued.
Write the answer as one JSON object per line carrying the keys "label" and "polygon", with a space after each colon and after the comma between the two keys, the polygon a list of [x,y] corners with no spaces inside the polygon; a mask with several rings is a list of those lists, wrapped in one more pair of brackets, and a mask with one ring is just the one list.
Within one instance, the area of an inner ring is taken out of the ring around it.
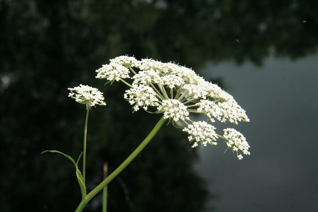
{"label": "thick green diagonal stem supporting the large white umbel", "polygon": [[142,143],[135,149],[135,151],[128,156],[128,158],[118,167],[116,170],[110,174],[105,180],[103,180],[98,186],[96,186],[88,195],[86,195],[86,199],[82,199],[78,208],[75,212],[81,212],[85,205],[95,196],[98,192],[100,192],[110,181],[112,181],[121,171],[126,168],[126,166],[142,151],[142,149],[149,143],[149,141],[156,135],[159,129],[162,127],[163,123],[166,120],[162,118],[158,121],[156,126],[151,130],[149,135],[142,141]]}

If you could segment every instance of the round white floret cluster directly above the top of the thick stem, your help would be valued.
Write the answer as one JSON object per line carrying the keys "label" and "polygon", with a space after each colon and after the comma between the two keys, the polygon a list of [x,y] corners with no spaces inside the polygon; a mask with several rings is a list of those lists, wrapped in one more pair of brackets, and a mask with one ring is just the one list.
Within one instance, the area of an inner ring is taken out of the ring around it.
{"label": "round white floret cluster directly above the top of the thick stem", "polygon": [[172,118],[175,122],[189,119],[189,112],[187,107],[183,105],[177,99],[164,99],[162,105],[158,106],[157,109],[163,113],[165,119]]}

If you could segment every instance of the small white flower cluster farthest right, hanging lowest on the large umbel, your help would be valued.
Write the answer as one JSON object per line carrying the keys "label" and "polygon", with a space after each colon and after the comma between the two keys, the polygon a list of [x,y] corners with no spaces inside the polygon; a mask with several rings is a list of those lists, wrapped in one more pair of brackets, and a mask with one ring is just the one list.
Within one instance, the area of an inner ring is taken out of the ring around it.
{"label": "small white flower cluster farthest right, hanging lowest on the large umbel", "polygon": [[226,142],[227,146],[232,148],[233,151],[236,152],[239,160],[242,160],[243,156],[240,154],[239,150],[243,151],[243,154],[250,154],[248,148],[250,147],[242,133],[236,131],[232,128],[224,129],[224,137],[228,142]]}

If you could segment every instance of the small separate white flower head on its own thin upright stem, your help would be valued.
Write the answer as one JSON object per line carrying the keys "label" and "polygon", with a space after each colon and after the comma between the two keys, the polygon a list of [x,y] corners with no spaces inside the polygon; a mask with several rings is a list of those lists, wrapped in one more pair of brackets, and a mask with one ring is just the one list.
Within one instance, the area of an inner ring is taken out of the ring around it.
{"label": "small separate white flower head on its own thin upright stem", "polygon": [[103,93],[97,88],[80,84],[78,87],[68,88],[69,97],[75,99],[78,103],[86,104],[87,108],[95,105],[106,105],[103,101]]}

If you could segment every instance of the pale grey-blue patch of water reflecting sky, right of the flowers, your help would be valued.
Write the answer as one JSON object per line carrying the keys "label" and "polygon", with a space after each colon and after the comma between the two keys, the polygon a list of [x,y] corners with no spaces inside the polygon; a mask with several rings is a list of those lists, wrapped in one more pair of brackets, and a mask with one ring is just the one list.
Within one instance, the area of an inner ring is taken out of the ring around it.
{"label": "pale grey-blue patch of water reflecting sky, right of the flowers", "polygon": [[294,61],[268,57],[262,67],[205,68],[205,77],[224,79],[251,120],[235,126],[251,146],[242,161],[223,154],[224,144],[199,150],[197,170],[220,196],[208,205],[221,211],[317,208],[317,70],[317,54]]}

